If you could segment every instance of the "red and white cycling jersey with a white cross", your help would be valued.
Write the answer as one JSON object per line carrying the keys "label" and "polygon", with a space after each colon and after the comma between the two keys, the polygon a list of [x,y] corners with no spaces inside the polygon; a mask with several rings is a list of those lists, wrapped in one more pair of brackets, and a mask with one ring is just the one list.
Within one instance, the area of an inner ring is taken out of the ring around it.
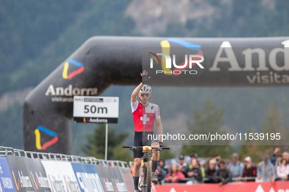
{"label": "red and white cycling jersey with a white cross", "polygon": [[131,102],[133,111],[134,131],[152,132],[154,131],[154,121],[159,119],[159,107],[156,104],[149,103],[144,107],[138,101]]}

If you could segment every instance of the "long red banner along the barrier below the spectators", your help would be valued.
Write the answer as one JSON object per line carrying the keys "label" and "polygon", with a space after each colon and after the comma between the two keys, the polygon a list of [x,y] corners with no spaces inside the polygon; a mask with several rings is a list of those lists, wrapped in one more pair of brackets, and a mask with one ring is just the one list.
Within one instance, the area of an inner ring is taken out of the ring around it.
{"label": "long red banner along the barrier below the spectators", "polygon": [[156,185],[156,192],[289,192],[289,181],[255,183]]}

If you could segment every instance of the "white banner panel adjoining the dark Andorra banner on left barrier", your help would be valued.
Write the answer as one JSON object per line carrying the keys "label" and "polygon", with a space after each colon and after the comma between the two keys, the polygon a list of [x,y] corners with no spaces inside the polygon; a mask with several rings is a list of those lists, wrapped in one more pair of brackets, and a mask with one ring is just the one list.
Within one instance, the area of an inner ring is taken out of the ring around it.
{"label": "white banner panel adjoining the dark Andorra banner on left barrier", "polygon": [[41,160],[52,192],[70,192],[67,190],[66,182],[59,173],[55,161]]}

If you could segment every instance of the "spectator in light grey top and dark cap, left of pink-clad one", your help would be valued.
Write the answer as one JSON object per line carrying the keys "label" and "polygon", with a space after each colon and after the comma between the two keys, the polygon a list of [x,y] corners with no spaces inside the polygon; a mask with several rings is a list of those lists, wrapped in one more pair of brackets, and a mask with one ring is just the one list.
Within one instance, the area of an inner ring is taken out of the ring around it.
{"label": "spectator in light grey top and dark cap, left of pink-clad one", "polygon": [[263,158],[264,161],[258,164],[257,178],[262,178],[262,181],[274,182],[276,179],[276,170],[275,166],[272,163],[268,163],[269,159],[269,155],[265,155]]}

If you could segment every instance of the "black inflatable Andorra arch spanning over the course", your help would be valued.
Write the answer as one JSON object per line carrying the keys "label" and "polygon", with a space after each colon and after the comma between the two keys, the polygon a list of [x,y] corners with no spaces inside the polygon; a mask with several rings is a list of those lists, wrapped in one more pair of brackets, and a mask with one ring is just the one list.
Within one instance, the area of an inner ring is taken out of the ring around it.
{"label": "black inflatable Andorra arch spanning over the course", "polygon": [[[179,49],[187,62],[173,58]],[[71,154],[73,96],[136,85],[142,69],[158,86],[286,86],[289,37],[89,38],[25,98],[24,150]]]}

